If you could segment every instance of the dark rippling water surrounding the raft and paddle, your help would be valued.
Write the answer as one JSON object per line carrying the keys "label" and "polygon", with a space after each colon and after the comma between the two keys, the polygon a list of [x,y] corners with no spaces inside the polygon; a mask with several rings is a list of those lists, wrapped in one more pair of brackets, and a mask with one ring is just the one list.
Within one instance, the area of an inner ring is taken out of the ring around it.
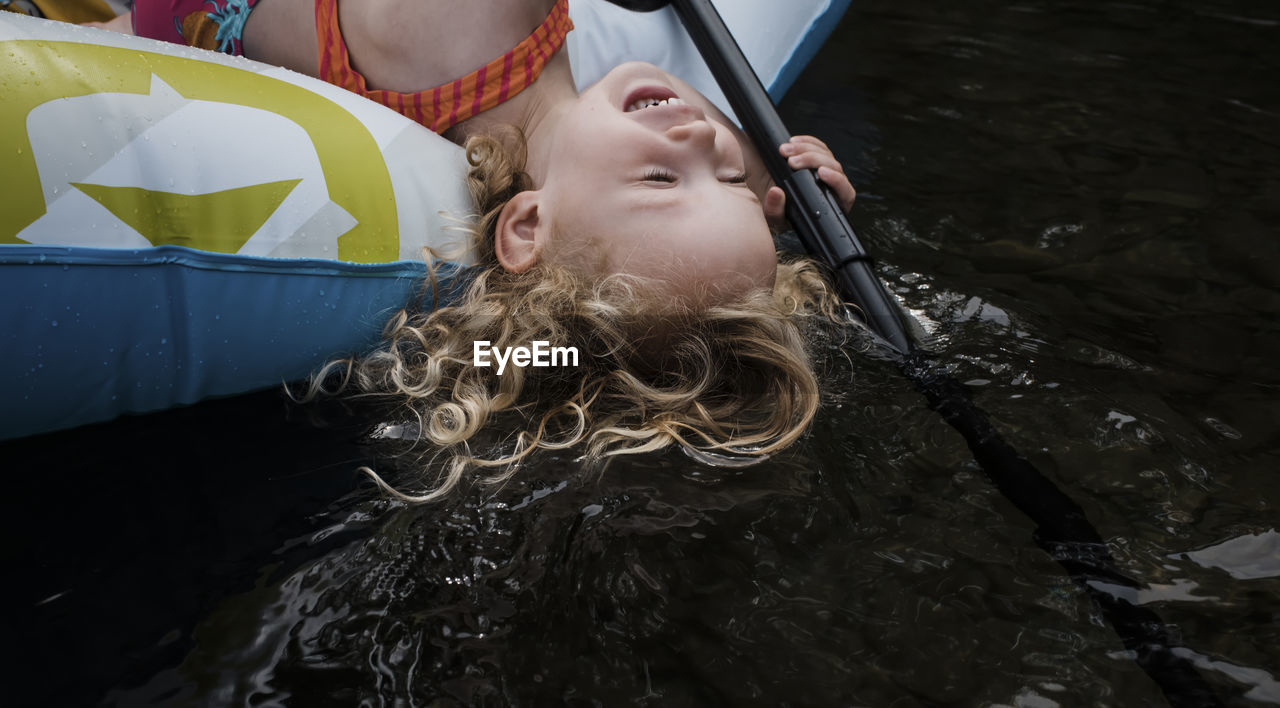
{"label": "dark rippling water surrounding the raft and paddle", "polygon": [[[1277,76],[1271,3],[855,0],[782,106],[1230,705],[1280,705]],[[428,507],[276,392],[3,443],[5,703],[1165,704],[896,366],[824,366],[764,465]]]}

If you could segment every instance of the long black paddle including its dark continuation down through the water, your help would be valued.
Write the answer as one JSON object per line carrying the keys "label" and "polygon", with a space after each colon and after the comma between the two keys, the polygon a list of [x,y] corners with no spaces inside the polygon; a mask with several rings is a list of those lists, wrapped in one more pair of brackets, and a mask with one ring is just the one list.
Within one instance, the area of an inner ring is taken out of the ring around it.
{"label": "long black paddle including its dark continuation down through the water", "polygon": [[786,192],[787,218],[809,255],[833,269],[840,293],[860,307],[867,325],[896,350],[902,373],[915,383],[929,406],[964,437],[996,489],[1036,524],[1037,544],[1088,593],[1170,705],[1220,705],[1190,661],[1174,653],[1174,635],[1160,617],[1130,602],[1138,583],[1116,568],[1106,543],[1079,504],[1001,438],[987,415],[973,403],[964,384],[914,346],[902,324],[901,310],[876,275],[872,259],[854,236],[838,201],[818,182],[813,170],[795,172],[778,154],[778,146],[790,141],[791,133],[710,0],[672,0],[671,4],[773,181]]}

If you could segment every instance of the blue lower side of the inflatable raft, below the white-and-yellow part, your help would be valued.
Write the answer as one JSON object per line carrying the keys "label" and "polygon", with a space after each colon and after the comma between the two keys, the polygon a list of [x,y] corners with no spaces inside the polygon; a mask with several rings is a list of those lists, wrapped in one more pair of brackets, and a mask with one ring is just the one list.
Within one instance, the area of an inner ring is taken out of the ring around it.
{"label": "blue lower side of the inflatable raft, below the white-and-yellow part", "polygon": [[10,303],[0,332],[17,437],[305,378],[376,342],[424,264],[19,246],[0,273],[6,292],[41,296]]}

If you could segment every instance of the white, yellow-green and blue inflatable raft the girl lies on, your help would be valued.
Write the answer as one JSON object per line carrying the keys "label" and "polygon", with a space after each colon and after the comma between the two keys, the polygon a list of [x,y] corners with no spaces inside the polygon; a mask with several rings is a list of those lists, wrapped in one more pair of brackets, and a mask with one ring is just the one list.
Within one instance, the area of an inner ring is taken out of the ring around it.
{"label": "white, yellow-green and blue inflatable raft the girl lies on", "polygon": [[[717,5],[778,99],[847,0]],[[646,60],[730,113],[671,10],[571,14],[580,86]],[[0,12],[0,438],[305,378],[460,251],[462,150],[310,77]]]}

